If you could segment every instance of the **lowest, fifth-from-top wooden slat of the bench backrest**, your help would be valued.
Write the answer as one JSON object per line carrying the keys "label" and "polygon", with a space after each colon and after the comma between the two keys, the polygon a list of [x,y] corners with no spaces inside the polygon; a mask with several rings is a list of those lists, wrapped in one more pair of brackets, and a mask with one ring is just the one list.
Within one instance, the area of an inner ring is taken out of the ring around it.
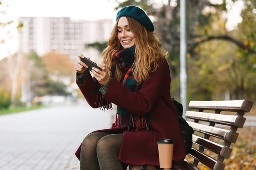
{"label": "lowest, fifth-from-top wooden slat of the bench backrest", "polygon": [[205,164],[207,167],[213,170],[224,170],[225,164],[213,159],[212,157],[192,148],[189,153],[190,156],[195,158],[196,160],[200,161],[201,163]]}

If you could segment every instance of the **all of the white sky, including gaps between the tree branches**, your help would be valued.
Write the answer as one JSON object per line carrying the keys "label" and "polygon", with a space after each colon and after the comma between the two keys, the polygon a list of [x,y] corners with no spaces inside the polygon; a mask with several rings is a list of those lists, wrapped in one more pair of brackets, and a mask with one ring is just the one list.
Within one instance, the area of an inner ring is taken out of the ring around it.
{"label": "all of the white sky, including gaps between the tree branches", "polygon": [[[119,0],[124,1],[124,0]],[[159,0],[165,3],[168,0]],[[218,1],[218,0],[216,0]],[[227,0],[229,1],[229,0]],[[9,4],[8,14],[0,20],[14,20],[15,23],[7,27],[11,30],[17,23],[18,17],[70,17],[73,20],[99,20],[112,19],[113,22],[117,11],[116,0],[2,0],[3,4]],[[238,2],[227,14],[229,21],[227,26],[233,28],[241,21],[240,12],[242,3]],[[6,30],[0,30],[0,40],[6,37]],[[15,53],[18,47],[17,32],[12,31],[11,40],[0,45],[0,59],[9,53]],[[9,51],[9,52],[8,52]]]}

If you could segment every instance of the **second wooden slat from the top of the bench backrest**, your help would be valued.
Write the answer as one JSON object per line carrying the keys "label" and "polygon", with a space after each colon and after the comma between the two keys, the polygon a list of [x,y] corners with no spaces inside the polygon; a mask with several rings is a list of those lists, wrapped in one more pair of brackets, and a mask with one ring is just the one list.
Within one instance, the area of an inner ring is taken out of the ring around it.
{"label": "second wooden slat from the top of the bench backrest", "polygon": [[246,118],[237,115],[224,115],[215,113],[186,111],[186,117],[189,119],[197,119],[206,122],[215,122],[221,125],[230,125],[236,127],[243,127]]}

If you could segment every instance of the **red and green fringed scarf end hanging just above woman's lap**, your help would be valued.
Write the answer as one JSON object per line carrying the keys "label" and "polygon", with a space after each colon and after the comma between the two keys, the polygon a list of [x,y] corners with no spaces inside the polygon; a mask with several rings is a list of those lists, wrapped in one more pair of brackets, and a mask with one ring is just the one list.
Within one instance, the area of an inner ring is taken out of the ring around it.
{"label": "red and green fringed scarf end hanging just above woman's lap", "polygon": [[[130,120],[128,121],[128,130],[135,130],[135,131],[140,131],[140,130],[148,130],[149,127],[149,122],[150,119],[146,119],[144,116],[137,117],[137,116],[130,116]],[[122,127],[124,124],[124,115],[120,113],[116,113],[116,122],[115,126],[116,127]]]}

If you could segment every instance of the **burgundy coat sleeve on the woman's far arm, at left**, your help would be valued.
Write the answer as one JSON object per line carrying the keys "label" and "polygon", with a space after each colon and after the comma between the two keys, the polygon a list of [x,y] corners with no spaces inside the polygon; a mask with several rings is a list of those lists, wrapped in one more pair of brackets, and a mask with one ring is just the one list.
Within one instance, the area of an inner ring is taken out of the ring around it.
{"label": "burgundy coat sleeve on the woman's far arm, at left", "polygon": [[98,84],[98,82],[95,82],[93,80],[91,74],[87,75],[83,84],[79,84],[76,79],[76,84],[78,85],[81,93],[84,95],[84,98],[86,99],[88,104],[92,108],[99,108],[99,97],[97,96],[99,94],[100,85]]}

